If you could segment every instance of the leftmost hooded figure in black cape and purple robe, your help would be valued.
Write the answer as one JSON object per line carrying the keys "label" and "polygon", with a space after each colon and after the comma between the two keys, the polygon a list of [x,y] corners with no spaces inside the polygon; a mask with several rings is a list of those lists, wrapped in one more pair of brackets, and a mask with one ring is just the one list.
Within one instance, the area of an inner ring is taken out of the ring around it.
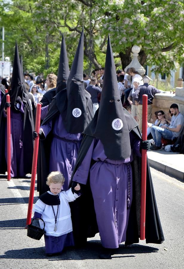
{"label": "leftmost hooded figure in black cape and purple robe", "polygon": [[[33,113],[25,83],[23,81],[18,47],[16,43],[13,62],[11,90],[11,176],[24,177],[31,173],[33,160]],[[7,171],[7,116],[6,95],[0,107],[0,173]]]}

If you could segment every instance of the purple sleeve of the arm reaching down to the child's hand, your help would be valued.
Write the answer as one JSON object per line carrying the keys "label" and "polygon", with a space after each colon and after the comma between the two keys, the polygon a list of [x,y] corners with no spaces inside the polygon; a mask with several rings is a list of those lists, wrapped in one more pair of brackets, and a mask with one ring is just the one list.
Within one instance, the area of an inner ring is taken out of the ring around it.
{"label": "purple sleeve of the arm reaching down to the child's hand", "polygon": [[86,185],[92,159],[93,147],[94,147],[94,139],[86,153],[86,156],[84,157],[84,160],[82,161],[81,165],[75,172],[73,176],[73,181]]}

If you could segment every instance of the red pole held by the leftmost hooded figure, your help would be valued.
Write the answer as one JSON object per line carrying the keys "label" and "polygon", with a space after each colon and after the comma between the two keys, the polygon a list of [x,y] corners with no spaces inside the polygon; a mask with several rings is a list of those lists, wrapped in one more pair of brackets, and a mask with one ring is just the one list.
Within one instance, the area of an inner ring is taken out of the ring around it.
{"label": "red pole held by the leftmost hooded figure", "polygon": [[[7,103],[10,103],[10,95],[6,96]],[[10,107],[7,107],[7,180],[10,181],[11,175],[11,123],[10,123]]]}

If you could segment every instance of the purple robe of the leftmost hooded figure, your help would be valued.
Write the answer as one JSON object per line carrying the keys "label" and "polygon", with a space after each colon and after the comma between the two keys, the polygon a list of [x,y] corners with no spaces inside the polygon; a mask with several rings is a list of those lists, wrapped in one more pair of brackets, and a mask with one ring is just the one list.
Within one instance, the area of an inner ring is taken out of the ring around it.
{"label": "purple robe of the leftmost hooded figure", "polygon": [[[4,117],[7,115],[4,112]],[[23,156],[23,129],[24,129],[24,104],[22,103],[19,112],[15,113],[11,109],[11,177],[22,177],[24,173],[24,156]],[[7,123],[5,128],[5,158],[7,161]]]}

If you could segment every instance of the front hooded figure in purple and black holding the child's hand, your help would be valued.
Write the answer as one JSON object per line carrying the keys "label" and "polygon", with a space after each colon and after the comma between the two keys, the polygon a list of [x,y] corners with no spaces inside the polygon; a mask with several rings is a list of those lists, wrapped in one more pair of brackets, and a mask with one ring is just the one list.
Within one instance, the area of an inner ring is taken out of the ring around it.
{"label": "front hooded figure in purple and black holding the child's hand", "polygon": [[[141,145],[141,147],[140,147]],[[121,104],[115,63],[108,37],[100,107],[84,130],[70,186],[79,183],[83,195],[70,204],[75,244],[98,231],[101,259],[111,259],[121,242],[133,244],[140,236],[140,148],[137,122]],[[69,186],[69,187],[70,187]],[[154,189],[147,165],[146,243],[164,241]]]}

